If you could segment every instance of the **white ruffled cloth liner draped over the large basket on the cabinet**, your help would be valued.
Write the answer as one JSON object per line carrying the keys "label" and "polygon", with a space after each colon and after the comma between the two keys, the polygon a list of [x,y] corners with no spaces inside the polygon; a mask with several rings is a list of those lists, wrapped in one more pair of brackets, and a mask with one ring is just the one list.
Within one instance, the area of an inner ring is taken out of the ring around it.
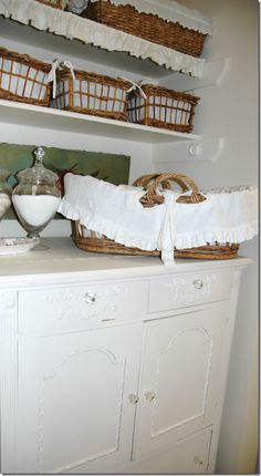
{"label": "white ruffled cloth liner draped over the large basket on the cabinet", "polygon": [[59,213],[127,247],[167,256],[174,247],[240,244],[258,234],[258,190],[252,186],[206,192],[199,204],[178,204],[179,193],[164,190],[165,203],[152,208],[139,203],[146,192],[138,187],[73,174],[65,175],[64,186]]}

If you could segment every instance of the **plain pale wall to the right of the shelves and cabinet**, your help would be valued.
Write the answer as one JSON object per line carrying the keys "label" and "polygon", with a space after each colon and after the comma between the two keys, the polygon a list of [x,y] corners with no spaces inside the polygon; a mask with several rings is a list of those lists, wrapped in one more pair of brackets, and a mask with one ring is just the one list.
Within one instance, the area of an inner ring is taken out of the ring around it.
{"label": "plain pale wall to the right of the shelves and cabinet", "polygon": [[[160,163],[157,170],[190,175],[200,186],[258,184],[258,21],[257,0],[179,0],[213,18],[213,37],[206,49],[212,60],[230,59],[222,83],[196,91],[201,105],[195,132],[225,137],[215,162]],[[175,87],[175,81],[173,81]],[[198,115],[197,115],[198,114]],[[158,157],[177,158],[171,146],[157,146]],[[197,159],[196,159],[197,162]],[[252,258],[243,273],[231,365],[218,452],[218,473],[252,473],[258,447],[258,240],[240,247]]]}

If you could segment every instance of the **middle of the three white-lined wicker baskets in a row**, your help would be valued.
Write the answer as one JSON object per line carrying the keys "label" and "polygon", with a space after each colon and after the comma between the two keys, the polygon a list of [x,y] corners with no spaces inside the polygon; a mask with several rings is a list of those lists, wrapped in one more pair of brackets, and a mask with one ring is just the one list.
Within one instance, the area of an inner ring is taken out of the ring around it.
{"label": "middle of the three white-lined wicker baskets in a row", "polygon": [[127,90],[130,83],[103,74],[74,70],[58,72],[54,107],[127,121]]}

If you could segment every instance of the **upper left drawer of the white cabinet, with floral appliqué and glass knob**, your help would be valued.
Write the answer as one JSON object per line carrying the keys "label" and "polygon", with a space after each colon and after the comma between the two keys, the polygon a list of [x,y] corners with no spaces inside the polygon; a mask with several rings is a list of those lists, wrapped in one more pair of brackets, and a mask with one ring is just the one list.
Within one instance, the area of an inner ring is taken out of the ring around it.
{"label": "upper left drawer of the white cabinet, with floral appliqu\u00e9 and glass knob", "polygon": [[138,320],[147,297],[147,281],[20,291],[19,330],[66,332]]}

